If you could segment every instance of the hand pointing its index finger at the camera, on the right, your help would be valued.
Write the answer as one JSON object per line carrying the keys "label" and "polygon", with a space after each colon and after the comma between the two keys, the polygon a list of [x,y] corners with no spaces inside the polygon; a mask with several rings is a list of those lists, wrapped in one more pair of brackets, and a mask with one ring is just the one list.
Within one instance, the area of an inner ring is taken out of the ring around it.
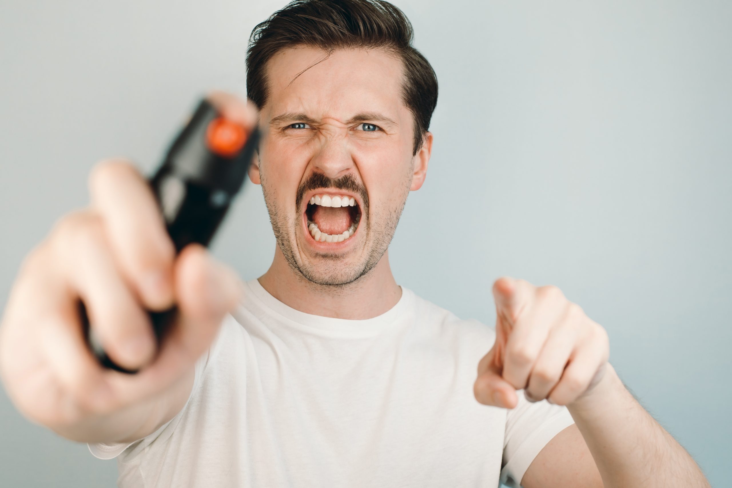
{"label": "hand pointing its index finger at the camera, on the right", "polygon": [[479,403],[514,408],[515,391],[523,389],[530,402],[569,405],[600,383],[610,356],[608,333],[556,286],[500,278],[493,297],[496,342],[478,365]]}

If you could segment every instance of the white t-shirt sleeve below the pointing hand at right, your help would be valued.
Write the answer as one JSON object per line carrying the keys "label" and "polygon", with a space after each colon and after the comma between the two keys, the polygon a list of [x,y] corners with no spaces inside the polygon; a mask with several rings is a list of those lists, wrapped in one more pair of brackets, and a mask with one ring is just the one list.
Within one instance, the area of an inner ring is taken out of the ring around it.
{"label": "white t-shirt sleeve below the pointing hand at right", "polygon": [[566,406],[553,405],[546,400],[531,403],[516,392],[518,405],[507,413],[504,436],[501,483],[520,487],[523,474],[539,451],[561,430],[575,423]]}

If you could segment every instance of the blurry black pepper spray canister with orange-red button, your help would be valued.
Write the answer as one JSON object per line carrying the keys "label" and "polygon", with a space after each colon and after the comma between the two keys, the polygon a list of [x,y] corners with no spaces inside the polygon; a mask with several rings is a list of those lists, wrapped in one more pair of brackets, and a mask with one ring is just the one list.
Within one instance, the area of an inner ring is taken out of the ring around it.
{"label": "blurry black pepper spray canister with orange-red button", "polygon": [[[239,123],[220,115],[208,100],[198,104],[149,180],[176,253],[190,243],[209,244],[231,200],[242,188],[258,141],[258,129],[247,133]],[[175,306],[149,312],[158,345],[177,313]],[[81,300],[79,314],[87,343],[100,364],[122,373],[136,373],[108,357],[90,327]]]}

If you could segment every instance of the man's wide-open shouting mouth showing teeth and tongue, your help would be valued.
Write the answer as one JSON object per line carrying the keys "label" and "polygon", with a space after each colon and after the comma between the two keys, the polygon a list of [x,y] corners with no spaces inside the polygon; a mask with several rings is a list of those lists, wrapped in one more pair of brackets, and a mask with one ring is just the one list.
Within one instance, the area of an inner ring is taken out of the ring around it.
{"label": "man's wide-open shouting mouth showing teeth and tongue", "polygon": [[307,231],[320,243],[342,243],[350,239],[361,221],[361,208],[354,197],[319,193],[310,197],[305,209]]}

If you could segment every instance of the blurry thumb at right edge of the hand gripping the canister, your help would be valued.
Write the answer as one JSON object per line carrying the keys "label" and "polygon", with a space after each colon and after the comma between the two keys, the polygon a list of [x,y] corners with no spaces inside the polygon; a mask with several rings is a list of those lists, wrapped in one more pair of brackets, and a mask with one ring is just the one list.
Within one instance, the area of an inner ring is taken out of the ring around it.
{"label": "blurry thumb at right edge of the hand gripping the canister", "polygon": [[226,314],[239,301],[236,273],[198,244],[187,245],[176,262],[179,340],[190,357],[208,348]]}

